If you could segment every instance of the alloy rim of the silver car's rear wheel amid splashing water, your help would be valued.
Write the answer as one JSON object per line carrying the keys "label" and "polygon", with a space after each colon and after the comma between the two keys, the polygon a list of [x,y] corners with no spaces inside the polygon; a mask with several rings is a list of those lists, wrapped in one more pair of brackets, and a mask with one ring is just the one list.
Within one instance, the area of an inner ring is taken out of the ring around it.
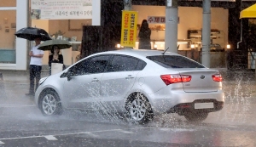
{"label": "alloy rim of the silver car's rear wheel amid splashing water", "polygon": [[141,121],[146,113],[146,105],[142,99],[135,99],[130,105],[131,118],[134,121]]}

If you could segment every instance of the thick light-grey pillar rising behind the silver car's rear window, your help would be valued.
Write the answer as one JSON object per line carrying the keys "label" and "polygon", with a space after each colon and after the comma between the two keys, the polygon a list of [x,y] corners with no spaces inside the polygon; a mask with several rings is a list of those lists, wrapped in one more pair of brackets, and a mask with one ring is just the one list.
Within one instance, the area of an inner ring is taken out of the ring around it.
{"label": "thick light-grey pillar rising behind the silver car's rear window", "polygon": [[165,48],[177,53],[177,0],[166,0],[166,37]]}

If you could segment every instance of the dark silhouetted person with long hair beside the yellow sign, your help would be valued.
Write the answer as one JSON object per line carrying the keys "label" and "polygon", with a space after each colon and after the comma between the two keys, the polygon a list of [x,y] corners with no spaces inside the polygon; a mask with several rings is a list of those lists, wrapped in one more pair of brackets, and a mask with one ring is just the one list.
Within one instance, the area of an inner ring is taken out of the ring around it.
{"label": "dark silhouetted person with long hair beside the yellow sign", "polygon": [[148,21],[143,20],[138,37],[139,37],[139,49],[151,49],[150,44],[151,30],[148,27]]}

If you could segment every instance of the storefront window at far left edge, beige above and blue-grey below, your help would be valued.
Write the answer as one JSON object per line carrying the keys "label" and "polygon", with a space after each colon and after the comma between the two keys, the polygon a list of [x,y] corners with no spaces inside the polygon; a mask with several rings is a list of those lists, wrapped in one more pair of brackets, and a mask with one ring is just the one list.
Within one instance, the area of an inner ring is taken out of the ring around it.
{"label": "storefront window at far left edge, beige above and blue-grey below", "polygon": [[16,10],[0,10],[0,14],[0,63],[15,64]]}

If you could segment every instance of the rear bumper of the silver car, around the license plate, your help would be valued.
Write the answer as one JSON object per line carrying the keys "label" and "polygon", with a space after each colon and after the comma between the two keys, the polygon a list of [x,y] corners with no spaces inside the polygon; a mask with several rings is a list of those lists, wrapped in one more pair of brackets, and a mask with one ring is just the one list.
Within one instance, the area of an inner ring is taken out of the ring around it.
{"label": "rear bumper of the silver car, around the license plate", "polygon": [[166,97],[166,95],[167,93],[163,91],[149,95],[149,102],[153,107],[154,113],[195,110],[195,103],[213,103],[214,108],[207,109],[207,111],[212,112],[221,110],[224,105],[224,92],[222,90],[211,93],[185,93],[183,91],[172,91],[168,93],[168,97]]}

